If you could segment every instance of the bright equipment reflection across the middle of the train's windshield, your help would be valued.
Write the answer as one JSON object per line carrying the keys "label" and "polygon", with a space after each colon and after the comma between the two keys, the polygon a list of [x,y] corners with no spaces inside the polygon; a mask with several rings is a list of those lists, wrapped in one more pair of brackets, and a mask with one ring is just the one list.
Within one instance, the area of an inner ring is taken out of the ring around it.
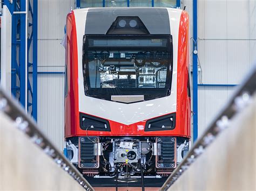
{"label": "bright equipment reflection across the middle of the train's windshield", "polygon": [[93,59],[91,88],[165,88],[167,53],[89,51],[88,55]]}

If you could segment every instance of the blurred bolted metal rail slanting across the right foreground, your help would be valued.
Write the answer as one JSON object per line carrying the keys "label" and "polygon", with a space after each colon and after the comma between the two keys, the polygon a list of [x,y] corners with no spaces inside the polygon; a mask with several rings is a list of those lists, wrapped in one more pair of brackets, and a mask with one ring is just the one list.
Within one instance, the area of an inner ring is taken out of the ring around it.
{"label": "blurred bolted metal rail slanting across the right foreground", "polygon": [[169,176],[160,190],[167,190],[173,185],[180,175],[183,174],[190,165],[204,153],[206,147],[209,146],[214,139],[228,127],[230,120],[238,114],[238,112],[241,112],[246,105],[250,104],[250,101],[252,100],[251,97],[254,94],[256,94],[256,63],[244,82],[237,87],[237,90],[234,92],[230,101],[213,119],[212,123],[197,140],[184,160]]}

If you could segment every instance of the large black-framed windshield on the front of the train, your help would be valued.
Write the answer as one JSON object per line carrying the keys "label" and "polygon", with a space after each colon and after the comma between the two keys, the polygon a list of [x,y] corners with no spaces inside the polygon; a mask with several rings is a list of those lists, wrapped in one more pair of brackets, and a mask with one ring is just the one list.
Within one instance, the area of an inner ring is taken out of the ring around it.
{"label": "large black-framed windshield on the front of the train", "polygon": [[170,95],[170,36],[117,37],[85,36],[85,94],[105,100],[120,95],[143,95],[144,100]]}

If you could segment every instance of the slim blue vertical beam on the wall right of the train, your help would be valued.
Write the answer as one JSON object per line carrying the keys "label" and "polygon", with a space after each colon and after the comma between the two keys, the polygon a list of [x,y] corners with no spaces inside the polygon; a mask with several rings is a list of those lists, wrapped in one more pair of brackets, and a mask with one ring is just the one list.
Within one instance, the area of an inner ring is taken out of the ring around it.
{"label": "slim blue vertical beam on the wall right of the train", "polygon": [[198,137],[198,66],[197,66],[197,0],[193,0],[193,143]]}

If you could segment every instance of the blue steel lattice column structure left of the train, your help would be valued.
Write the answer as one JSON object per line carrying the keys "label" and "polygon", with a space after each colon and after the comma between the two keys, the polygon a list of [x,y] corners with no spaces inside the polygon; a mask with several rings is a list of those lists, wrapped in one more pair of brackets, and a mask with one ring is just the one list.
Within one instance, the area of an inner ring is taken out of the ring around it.
{"label": "blue steel lattice column structure left of the train", "polygon": [[[12,3],[9,0],[4,0],[4,4],[8,6],[12,15],[12,95],[14,95],[24,107],[27,106],[25,108],[27,111],[29,107],[31,107],[31,115],[37,119],[37,0],[29,0],[28,4],[26,4],[26,0],[13,0]],[[29,11],[28,15],[24,13],[25,11]],[[14,12],[17,13],[15,14]],[[28,17],[31,19],[29,18],[29,22],[27,23],[26,19]],[[28,26],[26,24],[28,24]],[[28,30],[29,33],[27,31],[28,27],[32,29]],[[31,45],[33,48],[31,48]],[[28,60],[29,55],[32,55],[32,61]],[[32,71],[32,77],[30,76],[32,83],[30,83],[29,80],[29,69]]]}

